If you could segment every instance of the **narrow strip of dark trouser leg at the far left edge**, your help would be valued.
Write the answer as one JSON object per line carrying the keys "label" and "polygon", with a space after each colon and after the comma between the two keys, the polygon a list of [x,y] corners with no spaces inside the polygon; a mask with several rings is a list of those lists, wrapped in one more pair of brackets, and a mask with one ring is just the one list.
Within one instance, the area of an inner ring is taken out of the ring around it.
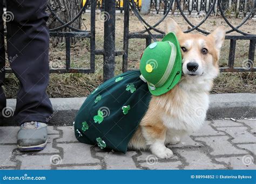
{"label": "narrow strip of dark trouser leg at the far left edge", "polygon": [[[3,1],[0,1],[0,15],[3,15]],[[6,107],[6,97],[2,89],[5,76],[5,49],[4,49],[4,24],[0,18],[0,125],[1,119],[4,118],[2,110]]]}

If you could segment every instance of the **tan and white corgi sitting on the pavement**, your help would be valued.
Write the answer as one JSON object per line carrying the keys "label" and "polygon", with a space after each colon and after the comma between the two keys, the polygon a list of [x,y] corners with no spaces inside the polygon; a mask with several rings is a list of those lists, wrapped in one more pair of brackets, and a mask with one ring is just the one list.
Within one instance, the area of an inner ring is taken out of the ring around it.
{"label": "tan and white corgi sitting on the pavement", "polygon": [[149,109],[128,147],[149,149],[159,158],[170,158],[167,144],[177,144],[181,137],[200,129],[206,118],[209,91],[219,74],[220,48],[225,39],[224,26],[207,36],[183,33],[178,24],[168,20],[166,33],[174,32],[182,54],[183,76],[167,93],[152,96]]}

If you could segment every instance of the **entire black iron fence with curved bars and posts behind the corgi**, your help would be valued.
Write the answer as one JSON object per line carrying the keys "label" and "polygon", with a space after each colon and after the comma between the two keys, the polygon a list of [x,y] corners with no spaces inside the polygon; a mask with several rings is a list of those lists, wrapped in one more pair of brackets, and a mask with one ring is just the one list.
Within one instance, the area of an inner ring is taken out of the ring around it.
{"label": "entire black iron fence with curved bars and posts behind the corgi", "polygon": [[[100,3],[102,2],[102,3]],[[160,7],[160,4],[158,5],[158,0],[151,1],[151,7]],[[252,18],[255,13],[256,3],[254,0],[254,4],[248,9],[249,5],[245,6],[246,0],[240,0],[239,7],[241,7],[241,4],[244,4],[242,7],[244,7],[242,10],[246,10],[246,16],[244,19],[242,19],[241,23],[238,26],[233,26],[232,23],[228,21],[228,19],[225,16],[225,7],[223,5],[224,2],[234,2],[233,0],[230,1],[218,1],[218,0],[171,0],[171,1],[161,1],[165,2],[163,7],[164,15],[154,25],[148,24],[142,16],[139,14],[139,1],[131,0],[131,1],[114,1],[114,0],[107,0],[107,1],[89,1],[87,0],[84,2],[85,4],[80,9],[79,13],[70,20],[68,23],[63,22],[58,15],[48,6],[50,12],[52,15],[62,24],[59,27],[56,27],[55,29],[50,30],[50,36],[51,37],[64,37],[65,38],[65,47],[66,47],[66,67],[58,68],[58,69],[50,69],[51,73],[94,73],[95,72],[95,55],[103,55],[104,63],[103,63],[103,77],[104,80],[110,79],[114,76],[114,63],[115,63],[115,56],[122,55],[123,56],[123,72],[126,72],[129,70],[127,62],[128,62],[128,48],[129,48],[129,40],[130,39],[145,39],[146,44],[145,46],[149,45],[151,43],[151,37],[146,32],[146,30],[138,31],[138,32],[129,32],[129,16],[130,11],[134,13],[134,15],[137,16],[137,18],[143,22],[147,27],[149,27],[149,30],[154,30],[157,32],[156,34],[153,34],[153,37],[155,38],[163,38],[164,32],[156,29],[156,26],[159,25],[163,20],[171,13],[171,10],[174,7],[179,11],[180,15],[186,20],[187,24],[190,25],[192,28],[189,30],[186,30],[185,32],[191,32],[193,30],[197,30],[201,33],[208,34],[208,32],[201,30],[200,25],[202,25],[208,17],[216,10],[216,7],[218,7],[220,15],[225,20],[226,24],[230,27],[230,30],[228,30],[226,33],[227,40],[230,40],[230,52],[228,56],[228,64],[227,67],[221,67],[221,72],[256,72],[256,67],[253,67],[254,62],[254,53],[255,53],[255,43],[256,43],[256,35],[255,34],[248,34],[245,32],[242,32],[239,30],[239,27],[244,25],[248,19]],[[191,3],[193,2],[193,5]],[[206,3],[205,2],[210,2]],[[237,2],[237,1],[235,1]],[[152,5],[152,3],[155,3]],[[181,5],[181,3],[188,4],[187,9],[184,9],[184,6]],[[238,7],[238,6],[237,6]],[[100,8],[104,10],[104,13],[108,15],[108,18],[106,21],[104,21],[104,46],[102,49],[96,49],[95,47],[95,18],[96,18],[96,9]],[[88,31],[83,31],[76,29],[75,27],[72,27],[71,24],[75,22],[75,20],[82,16],[82,13],[85,12],[86,9],[90,9],[90,15],[91,15],[91,28]],[[123,50],[122,51],[116,51],[115,49],[115,19],[116,19],[116,10],[122,10],[124,12],[124,37],[123,37]],[[248,10],[247,10],[248,9]],[[175,11],[177,11],[175,10]],[[205,17],[201,22],[197,25],[193,25],[185,15],[185,12],[187,11],[192,12],[200,12],[201,10],[205,11]],[[239,9],[240,10],[240,9]],[[158,10],[158,12],[160,9]],[[157,12],[157,11],[156,11]],[[64,27],[69,27],[69,32],[63,32],[62,29]],[[238,35],[229,35],[228,33],[231,32],[237,32]],[[83,38],[89,38],[90,39],[90,68],[72,68],[70,66],[70,40],[72,37],[83,37]],[[234,67],[234,58],[235,58],[235,48],[237,40],[250,40],[250,46],[248,48],[248,66],[250,68],[242,68],[242,67]],[[10,72],[10,71],[8,71]]]}

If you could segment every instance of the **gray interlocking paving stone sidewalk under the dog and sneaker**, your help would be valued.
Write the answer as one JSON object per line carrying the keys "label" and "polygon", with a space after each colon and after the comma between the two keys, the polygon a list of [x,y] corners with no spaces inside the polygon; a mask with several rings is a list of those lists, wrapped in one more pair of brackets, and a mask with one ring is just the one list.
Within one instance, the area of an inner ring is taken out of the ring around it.
{"label": "gray interlocking paving stone sidewalk under the dog and sneaker", "polygon": [[72,126],[49,126],[48,145],[39,152],[19,152],[19,128],[0,127],[1,169],[256,169],[256,121],[206,121],[170,148],[174,157],[150,152],[105,152],[79,143]]}

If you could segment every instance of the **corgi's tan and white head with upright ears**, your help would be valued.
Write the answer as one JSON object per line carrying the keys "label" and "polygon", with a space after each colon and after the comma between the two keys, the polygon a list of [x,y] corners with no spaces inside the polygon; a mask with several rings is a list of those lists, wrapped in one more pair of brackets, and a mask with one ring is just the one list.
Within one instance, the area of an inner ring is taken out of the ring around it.
{"label": "corgi's tan and white head with upright ears", "polygon": [[183,74],[186,79],[214,79],[219,73],[220,48],[225,39],[224,26],[218,27],[208,36],[183,33],[178,24],[169,19],[166,33],[174,32],[179,40]]}

